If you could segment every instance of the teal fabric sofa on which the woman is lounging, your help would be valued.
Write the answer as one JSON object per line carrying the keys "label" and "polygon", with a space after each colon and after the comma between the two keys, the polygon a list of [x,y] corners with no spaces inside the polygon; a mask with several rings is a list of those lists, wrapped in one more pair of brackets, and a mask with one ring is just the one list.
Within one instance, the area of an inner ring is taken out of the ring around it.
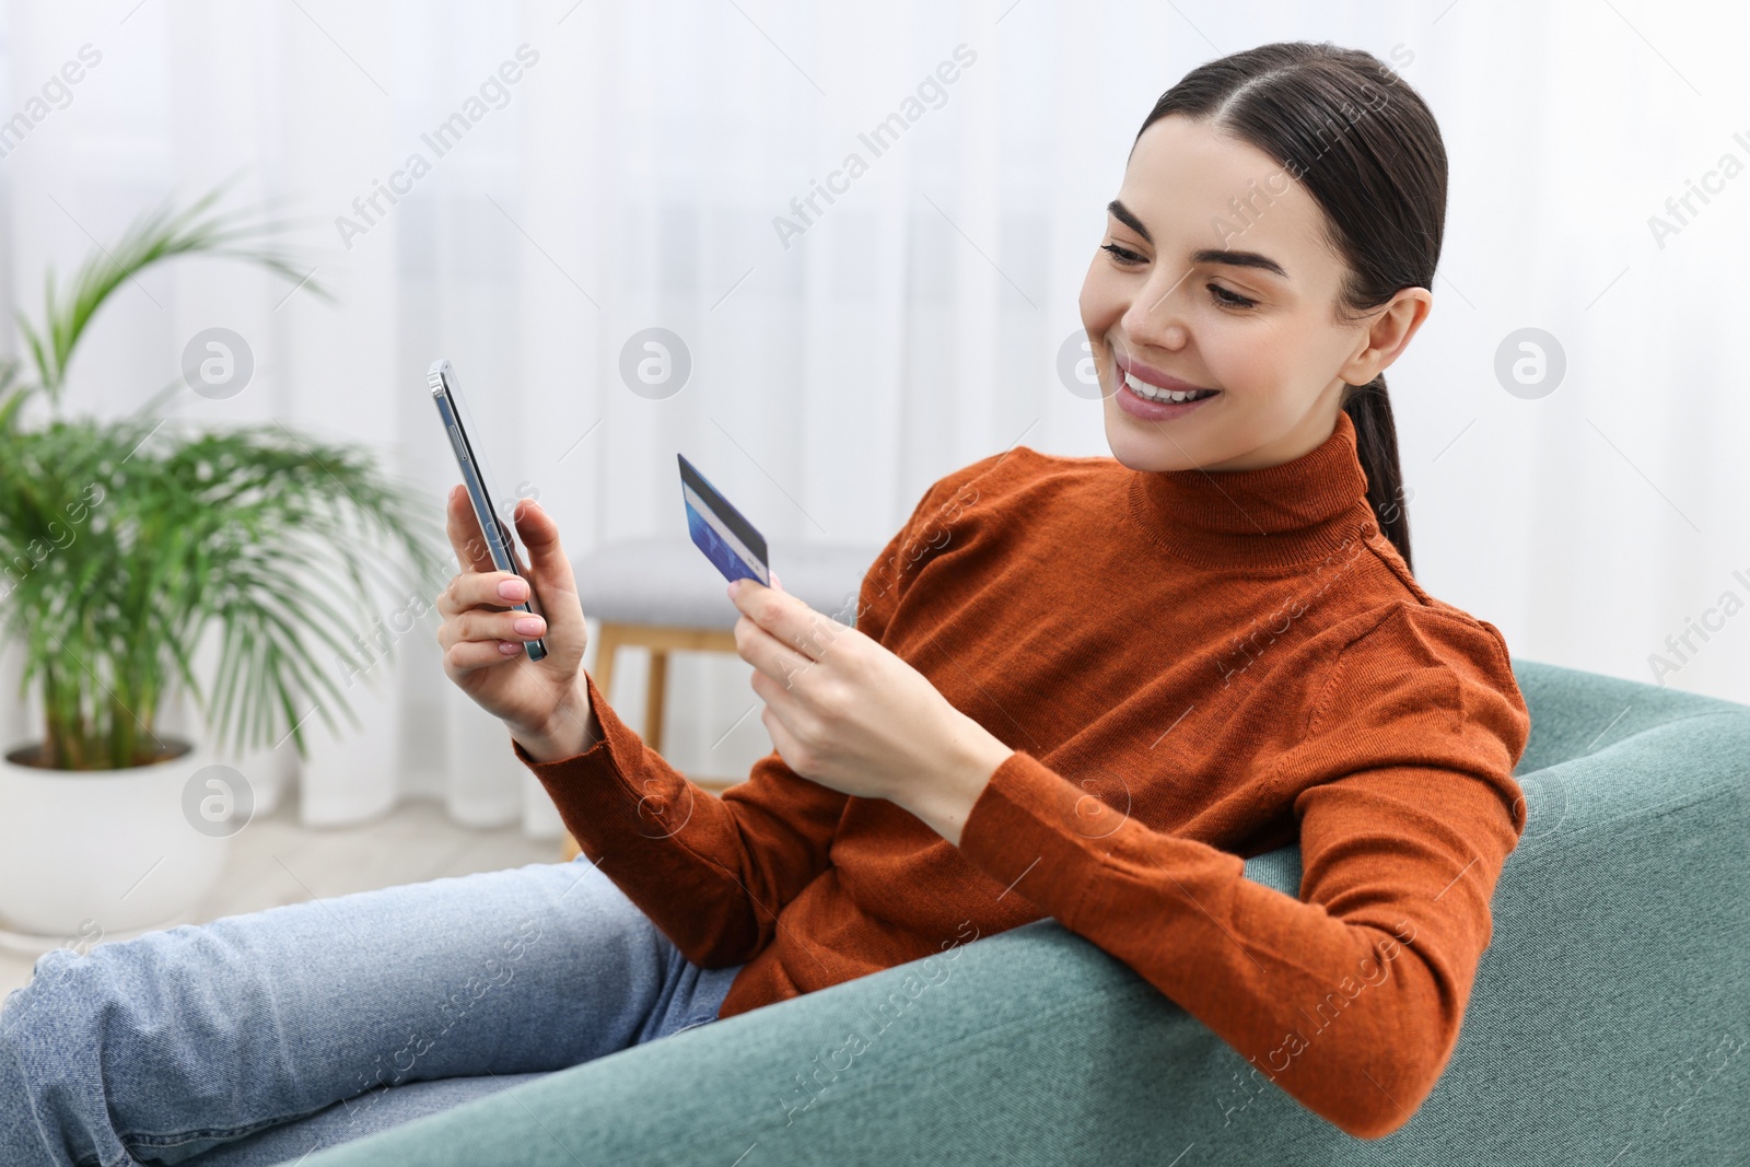
{"label": "teal fabric sofa on which the woman is lounging", "polygon": [[[588,1062],[303,1167],[1750,1162],[1750,707],[1519,661],[1530,826],[1460,1045],[1342,1134],[1055,920]],[[1298,850],[1246,864],[1298,891]],[[915,983],[915,982],[914,982]],[[889,1025],[800,1109],[852,1018]],[[819,1062],[816,1059],[821,1059]]]}

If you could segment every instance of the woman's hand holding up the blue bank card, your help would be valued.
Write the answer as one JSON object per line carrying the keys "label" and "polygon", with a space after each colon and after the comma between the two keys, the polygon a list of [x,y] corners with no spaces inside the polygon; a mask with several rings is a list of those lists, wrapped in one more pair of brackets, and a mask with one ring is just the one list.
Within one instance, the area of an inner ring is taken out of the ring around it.
{"label": "woman's hand holding up the blue bank card", "polygon": [[954,843],[1013,751],[868,635],[775,586],[738,579],[735,651],[754,667],[766,731],[805,779],[905,807]]}

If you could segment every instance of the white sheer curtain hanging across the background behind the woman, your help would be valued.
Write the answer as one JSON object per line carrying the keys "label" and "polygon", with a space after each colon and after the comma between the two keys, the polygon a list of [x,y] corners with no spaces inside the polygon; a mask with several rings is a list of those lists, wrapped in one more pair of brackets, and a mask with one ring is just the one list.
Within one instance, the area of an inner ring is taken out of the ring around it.
{"label": "white sheer curtain hanging across the background behind the woman", "polygon": [[[1421,581],[1521,656],[1652,679],[1659,653],[1668,684],[1750,700],[1750,616],[1722,614],[1724,593],[1750,600],[1736,7],[14,0],[4,19],[7,117],[84,45],[100,59],[0,138],[0,306],[40,311],[47,264],[240,170],[236,203],[310,217],[298,240],[340,297],[168,266],[94,322],[68,408],[124,409],[229,327],[256,380],[177,416],[366,441],[436,506],[453,467],[422,378],[448,355],[500,476],[572,553],[679,532],[679,450],[760,518],[779,572],[802,541],[886,539],[929,481],[1017,441],[1106,453],[1057,353],[1141,117],[1220,52],[1370,49],[1426,96],[1452,166],[1437,310],[1390,376]],[[1661,247],[1648,217],[1675,224],[1690,182],[1712,192]],[[620,374],[648,327],[691,357],[665,399]],[[1494,376],[1522,327],[1566,355],[1535,401]],[[1676,661],[1689,619],[1713,630]],[[306,724],[303,815],[425,794],[551,831],[434,626],[354,689],[360,733]],[[637,723],[632,661],[621,679]],[[677,661],[672,688],[684,770],[746,773],[770,749],[758,717],[718,740],[752,700],[740,661]],[[0,702],[12,738],[33,728]]]}

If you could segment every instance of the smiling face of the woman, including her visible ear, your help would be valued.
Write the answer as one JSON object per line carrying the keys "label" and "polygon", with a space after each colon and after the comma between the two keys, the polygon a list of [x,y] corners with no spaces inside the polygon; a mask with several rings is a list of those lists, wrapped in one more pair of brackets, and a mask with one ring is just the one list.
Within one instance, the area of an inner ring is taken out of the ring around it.
{"label": "smiling face of the woman, including her visible ear", "polygon": [[[1144,129],[1082,285],[1113,455],[1241,471],[1318,448],[1342,387],[1390,366],[1432,304],[1404,289],[1344,322],[1344,275],[1325,212],[1267,154],[1176,114]],[[1136,381],[1214,392],[1157,404]]]}

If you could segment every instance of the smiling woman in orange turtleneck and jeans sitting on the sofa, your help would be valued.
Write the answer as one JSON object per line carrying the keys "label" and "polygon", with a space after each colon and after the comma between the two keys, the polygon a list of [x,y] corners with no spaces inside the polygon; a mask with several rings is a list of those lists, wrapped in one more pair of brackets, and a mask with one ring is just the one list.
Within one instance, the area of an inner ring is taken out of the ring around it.
{"label": "smiling woman in orange turtleneck and jeans sitting on the sofa", "polygon": [[[1365,52],[1167,91],[1082,290],[1115,458],[943,478],[854,628],[732,588],[777,749],[721,800],[581,668],[553,521],[516,518],[525,618],[453,492],[444,672],[584,856],[51,954],[0,1027],[0,1158],[296,1158],[1043,915],[1328,1122],[1395,1130],[1524,828],[1524,702],[1500,633],[1410,574],[1382,378],[1444,208],[1432,115]],[[1295,838],[1300,899],[1242,878]]]}

